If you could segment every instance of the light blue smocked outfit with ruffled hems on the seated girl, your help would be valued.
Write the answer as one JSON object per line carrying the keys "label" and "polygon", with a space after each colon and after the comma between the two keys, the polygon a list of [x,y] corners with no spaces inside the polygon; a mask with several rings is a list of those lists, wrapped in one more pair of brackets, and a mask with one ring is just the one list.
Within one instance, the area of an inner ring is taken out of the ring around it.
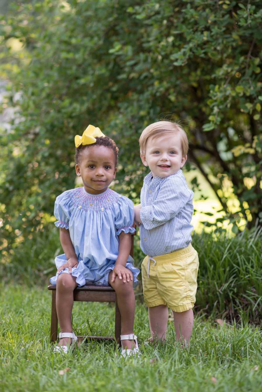
{"label": "light blue smocked outfit with ruffled hems on the seated girl", "polygon": [[[108,284],[108,275],[118,257],[118,236],[124,231],[133,233],[134,207],[131,200],[112,189],[100,194],[87,193],[84,187],[71,189],[56,198],[55,225],[68,229],[78,258],[72,268],[78,286],[86,283]],[[66,263],[66,255],[55,258],[56,267]],[[133,273],[133,285],[138,284],[139,269],[129,255],[126,268]],[[61,273],[69,273],[68,268]],[[56,284],[56,276],[50,279]]]}

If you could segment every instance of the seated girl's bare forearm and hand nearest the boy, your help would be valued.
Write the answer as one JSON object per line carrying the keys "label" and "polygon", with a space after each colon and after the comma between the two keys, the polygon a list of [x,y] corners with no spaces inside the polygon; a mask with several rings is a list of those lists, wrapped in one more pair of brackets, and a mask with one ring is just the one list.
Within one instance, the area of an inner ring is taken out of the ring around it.
{"label": "seated girl's bare forearm and hand nearest the boy", "polygon": [[132,272],[126,268],[126,261],[131,250],[131,233],[124,233],[122,231],[118,238],[118,257],[113,269],[112,282],[114,282],[116,276],[118,276],[119,279],[123,278],[123,282],[126,283],[126,281],[129,282],[129,280],[133,280]]}

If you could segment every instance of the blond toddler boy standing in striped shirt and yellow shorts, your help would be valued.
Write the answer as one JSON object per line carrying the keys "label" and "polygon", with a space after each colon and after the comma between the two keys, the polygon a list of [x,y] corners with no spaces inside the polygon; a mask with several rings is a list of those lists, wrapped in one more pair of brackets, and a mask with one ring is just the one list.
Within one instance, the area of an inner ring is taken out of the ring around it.
{"label": "blond toddler boy standing in striped shirt and yellow shorts", "polygon": [[180,125],[159,121],[140,136],[140,156],[151,172],[144,178],[141,204],[135,206],[140,246],[145,254],[142,282],[152,338],[166,339],[168,308],[173,311],[176,340],[193,329],[198,255],[191,245],[193,191],[181,168],[188,140]]}

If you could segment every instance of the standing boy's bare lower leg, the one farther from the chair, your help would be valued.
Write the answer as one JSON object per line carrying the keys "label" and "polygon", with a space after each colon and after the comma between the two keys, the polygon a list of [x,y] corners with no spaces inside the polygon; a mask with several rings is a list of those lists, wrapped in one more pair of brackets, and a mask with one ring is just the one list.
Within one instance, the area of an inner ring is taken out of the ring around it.
{"label": "standing boy's bare lower leg, the one farther from the chair", "polygon": [[185,312],[174,312],[174,325],[176,330],[176,341],[186,341],[189,344],[190,336],[193,330],[194,313],[192,309]]}

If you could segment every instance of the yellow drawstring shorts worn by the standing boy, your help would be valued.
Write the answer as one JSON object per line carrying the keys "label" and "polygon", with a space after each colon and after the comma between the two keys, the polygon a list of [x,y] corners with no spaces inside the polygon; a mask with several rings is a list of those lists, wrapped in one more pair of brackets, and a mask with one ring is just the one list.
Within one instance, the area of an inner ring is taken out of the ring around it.
{"label": "yellow drawstring shorts worn by the standing boy", "polygon": [[152,258],[149,261],[149,256],[146,256],[141,266],[146,305],[167,305],[174,312],[192,309],[196,301],[199,265],[193,246],[189,244],[185,249],[153,259],[156,263]]}

